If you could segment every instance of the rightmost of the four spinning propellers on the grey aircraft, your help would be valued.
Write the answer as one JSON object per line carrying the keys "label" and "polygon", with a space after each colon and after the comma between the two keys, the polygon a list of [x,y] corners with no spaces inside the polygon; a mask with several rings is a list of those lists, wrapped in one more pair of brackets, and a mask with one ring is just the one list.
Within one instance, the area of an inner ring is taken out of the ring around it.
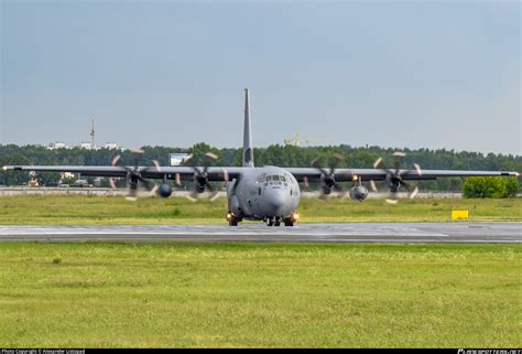
{"label": "rightmost of the four spinning propellers on the grey aircraft", "polygon": [[[390,196],[387,199],[387,203],[389,204],[396,204],[399,202],[399,190],[401,186],[405,187],[406,191],[409,192],[409,199],[414,199],[418,194],[418,187],[415,186],[412,189],[412,186],[403,180],[404,173],[410,172],[410,170],[400,170],[400,167],[402,164],[402,160],[406,157],[406,153],[404,151],[395,151],[393,152],[393,169],[388,169],[385,167],[382,167],[383,170],[387,171],[387,176],[385,181],[388,183],[388,186],[390,189]],[[379,158],[376,160],[373,163],[373,168],[378,169],[380,165],[383,165],[382,163],[383,159]],[[417,163],[414,163],[414,169],[415,173],[417,175],[422,175],[422,170],[421,165]],[[370,180],[370,186],[373,192],[377,192],[377,185],[373,180]]]}

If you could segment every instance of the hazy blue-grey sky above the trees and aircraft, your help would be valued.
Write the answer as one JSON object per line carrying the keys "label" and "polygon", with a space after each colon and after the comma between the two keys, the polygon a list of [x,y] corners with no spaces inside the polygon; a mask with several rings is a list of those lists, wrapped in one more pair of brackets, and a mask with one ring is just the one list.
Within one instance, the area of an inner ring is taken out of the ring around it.
{"label": "hazy blue-grey sky above the trees and aircraft", "polygon": [[0,143],[522,153],[519,1],[0,2]]}

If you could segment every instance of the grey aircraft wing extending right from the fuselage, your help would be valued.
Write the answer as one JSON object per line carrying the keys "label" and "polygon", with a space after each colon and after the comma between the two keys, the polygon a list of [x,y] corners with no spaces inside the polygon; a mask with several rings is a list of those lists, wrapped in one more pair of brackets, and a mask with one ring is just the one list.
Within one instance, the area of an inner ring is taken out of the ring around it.
{"label": "grey aircraft wing extending right from the fuselage", "polygon": [[[320,181],[322,171],[314,168],[290,168],[285,169],[292,173],[298,182],[306,179],[311,182]],[[328,169],[326,172],[330,172]],[[394,170],[393,170],[394,171]],[[336,181],[352,181],[355,176],[362,181],[382,181],[387,178],[388,170],[383,169],[335,169]],[[459,170],[399,170],[403,180],[436,180],[437,178],[448,176],[519,176],[518,172],[512,171],[459,171]]]}

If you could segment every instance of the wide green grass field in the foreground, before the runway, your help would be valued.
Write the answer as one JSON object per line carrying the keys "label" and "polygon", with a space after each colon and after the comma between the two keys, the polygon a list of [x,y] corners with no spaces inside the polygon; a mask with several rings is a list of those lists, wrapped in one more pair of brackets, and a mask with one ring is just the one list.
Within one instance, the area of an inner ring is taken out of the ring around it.
{"label": "wide green grass field in the foreground, before the runway", "polygon": [[520,347],[521,255],[519,245],[0,244],[0,346]]}

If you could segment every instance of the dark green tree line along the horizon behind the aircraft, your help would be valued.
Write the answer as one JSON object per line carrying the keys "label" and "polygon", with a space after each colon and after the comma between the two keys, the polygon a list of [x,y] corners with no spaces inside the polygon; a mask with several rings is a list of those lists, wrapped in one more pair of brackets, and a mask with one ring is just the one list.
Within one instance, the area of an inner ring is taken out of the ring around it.
{"label": "dark green tree line along the horizon behind the aircraft", "polygon": [[[191,164],[196,165],[241,165],[242,148],[218,149],[206,143],[196,143],[188,149],[176,147],[143,147],[144,153],[140,155],[140,165],[152,165],[153,160],[161,165],[168,165],[170,153],[194,153]],[[513,154],[479,153],[455,150],[429,150],[407,148],[381,147],[351,147],[347,144],[330,147],[294,147],[269,146],[254,148],[255,165],[278,165],[283,168],[311,167],[314,159],[324,168],[355,168],[369,169],[373,162],[382,158],[381,167],[394,168],[393,152],[404,151],[405,158],[401,160],[401,169],[413,169],[413,163],[418,163],[422,169],[429,170],[490,170],[490,171],[522,171],[522,157]],[[206,152],[215,153],[218,159],[209,160]],[[107,165],[120,154],[121,163],[132,165],[137,157],[131,150],[86,150],[86,149],[56,149],[48,150],[41,146],[0,146],[0,165],[6,164],[69,164],[69,165]],[[334,157],[339,157],[334,159]],[[56,173],[39,173],[42,183],[59,179]],[[28,173],[10,171],[1,172],[0,184],[26,184],[31,178]],[[437,181],[418,182],[418,186],[429,191],[460,191],[464,180],[460,178],[439,179]]]}

